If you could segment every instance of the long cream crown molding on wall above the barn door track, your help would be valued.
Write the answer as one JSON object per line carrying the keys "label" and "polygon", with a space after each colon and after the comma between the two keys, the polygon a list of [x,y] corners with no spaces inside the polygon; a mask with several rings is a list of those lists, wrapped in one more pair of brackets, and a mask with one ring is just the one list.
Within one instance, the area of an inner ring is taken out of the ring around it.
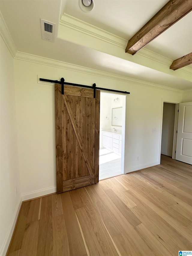
{"label": "long cream crown molding on wall above the barn door track", "polygon": [[54,59],[36,56],[36,55],[29,54],[29,53],[17,52],[15,59],[32,62],[32,63],[36,63],[36,64],[41,64],[41,65],[46,65],[46,66],[51,66],[51,67],[55,67],[55,68],[62,68],[62,69],[80,72],[80,73],[84,73],[84,74],[95,75],[98,77],[104,77],[104,78],[108,78],[108,79],[118,80],[118,81],[131,83],[131,84],[135,84],[135,85],[147,86],[147,87],[170,91],[170,92],[176,92],[176,93],[184,92],[183,90],[179,90],[179,89],[175,89],[175,88],[171,88],[171,87],[167,87],[167,86],[163,86],[163,85],[159,85],[159,84],[155,84],[155,83],[145,82],[142,80],[137,80],[137,79],[122,76],[122,75],[117,75],[117,74],[106,72],[106,71],[100,71],[100,70],[93,69],[93,68],[86,68],[83,66],[79,66],[79,65],[75,65],[75,64],[71,64],[71,63],[67,63],[67,62],[61,62],[61,61],[57,61]]}

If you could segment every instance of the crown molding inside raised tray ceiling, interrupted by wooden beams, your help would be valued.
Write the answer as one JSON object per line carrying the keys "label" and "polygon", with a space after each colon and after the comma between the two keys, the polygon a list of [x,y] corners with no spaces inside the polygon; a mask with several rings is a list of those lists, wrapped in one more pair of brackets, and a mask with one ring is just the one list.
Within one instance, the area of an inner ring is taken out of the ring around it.
{"label": "crown molding inside raised tray ceiling, interrupted by wooden beams", "polygon": [[[82,20],[79,20],[69,14],[64,13],[63,16],[61,17],[61,20],[59,22],[61,26],[65,26],[69,29],[73,29],[75,31],[81,32],[85,35],[89,35],[93,38],[100,39],[101,41],[107,42],[109,44],[112,44],[116,47],[120,47],[121,49],[125,50],[127,46],[128,40],[125,38],[121,38],[117,35],[114,35],[110,32],[105,31],[104,29],[100,29],[96,26],[93,26],[89,23],[86,23]],[[173,60],[164,57],[158,53],[155,53],[151,50],[148,50],[146,48],[142,48],[140,51],[136,53],[136,55],[150,59],[152,61],[158,62],[166,68],[170,69],[170,65],[173,62]],[[185,73],[187,75],[191,75],[191,68],[184,67],[179,70],[181,73]]]}

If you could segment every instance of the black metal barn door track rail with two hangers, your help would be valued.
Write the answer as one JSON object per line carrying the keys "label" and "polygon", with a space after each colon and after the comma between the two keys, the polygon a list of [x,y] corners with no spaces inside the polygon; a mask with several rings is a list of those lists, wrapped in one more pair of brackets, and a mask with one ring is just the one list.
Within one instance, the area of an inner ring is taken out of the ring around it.
{"label": "black metal barn door track rail with two hangers", "polygon": [[124,91],[119,91],[119,90],[96,87],[95,83],[92,86],[78,84],[78,83],[67,83],[67,82],[65,82],[63,77],[61,78],[61,81],[49,80],[49,79],[44,79],[44,78],[39,78],[39,80],[44,81],[44,82],[49,82],[49,83],[59,83],[59,84],[61,84],[61,94],[62,95],[64,95],[64,84],[93,89],[94,90],[94,98],[95,98],[95,90],[104,90],[104,91],[110,91],[110,92],[120,92],[120,93],[130,94],[130,92],[126,92],[126,91],[124,92]]}

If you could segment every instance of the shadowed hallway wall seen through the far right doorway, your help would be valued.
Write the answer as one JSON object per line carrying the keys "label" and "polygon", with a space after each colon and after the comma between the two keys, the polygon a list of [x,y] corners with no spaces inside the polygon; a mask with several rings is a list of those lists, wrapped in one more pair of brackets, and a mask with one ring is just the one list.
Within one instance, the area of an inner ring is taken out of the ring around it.
{"label": "shadowed hallway wall seen through the far right doorway", "polygon": [[164,102],[161,154],[172,157],[176,104]]}

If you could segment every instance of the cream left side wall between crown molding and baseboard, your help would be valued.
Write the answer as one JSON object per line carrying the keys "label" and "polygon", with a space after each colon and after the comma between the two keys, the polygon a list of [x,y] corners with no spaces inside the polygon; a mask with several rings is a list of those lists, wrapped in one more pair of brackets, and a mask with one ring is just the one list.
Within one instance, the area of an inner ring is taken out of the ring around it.
{"label": "cream left side wall between crown molding and baseboard", "polygon": [[[13,57],[0,36],[0,255],[10,242],[21,203]],[[16,194],[17,189],[17,194]]]}

